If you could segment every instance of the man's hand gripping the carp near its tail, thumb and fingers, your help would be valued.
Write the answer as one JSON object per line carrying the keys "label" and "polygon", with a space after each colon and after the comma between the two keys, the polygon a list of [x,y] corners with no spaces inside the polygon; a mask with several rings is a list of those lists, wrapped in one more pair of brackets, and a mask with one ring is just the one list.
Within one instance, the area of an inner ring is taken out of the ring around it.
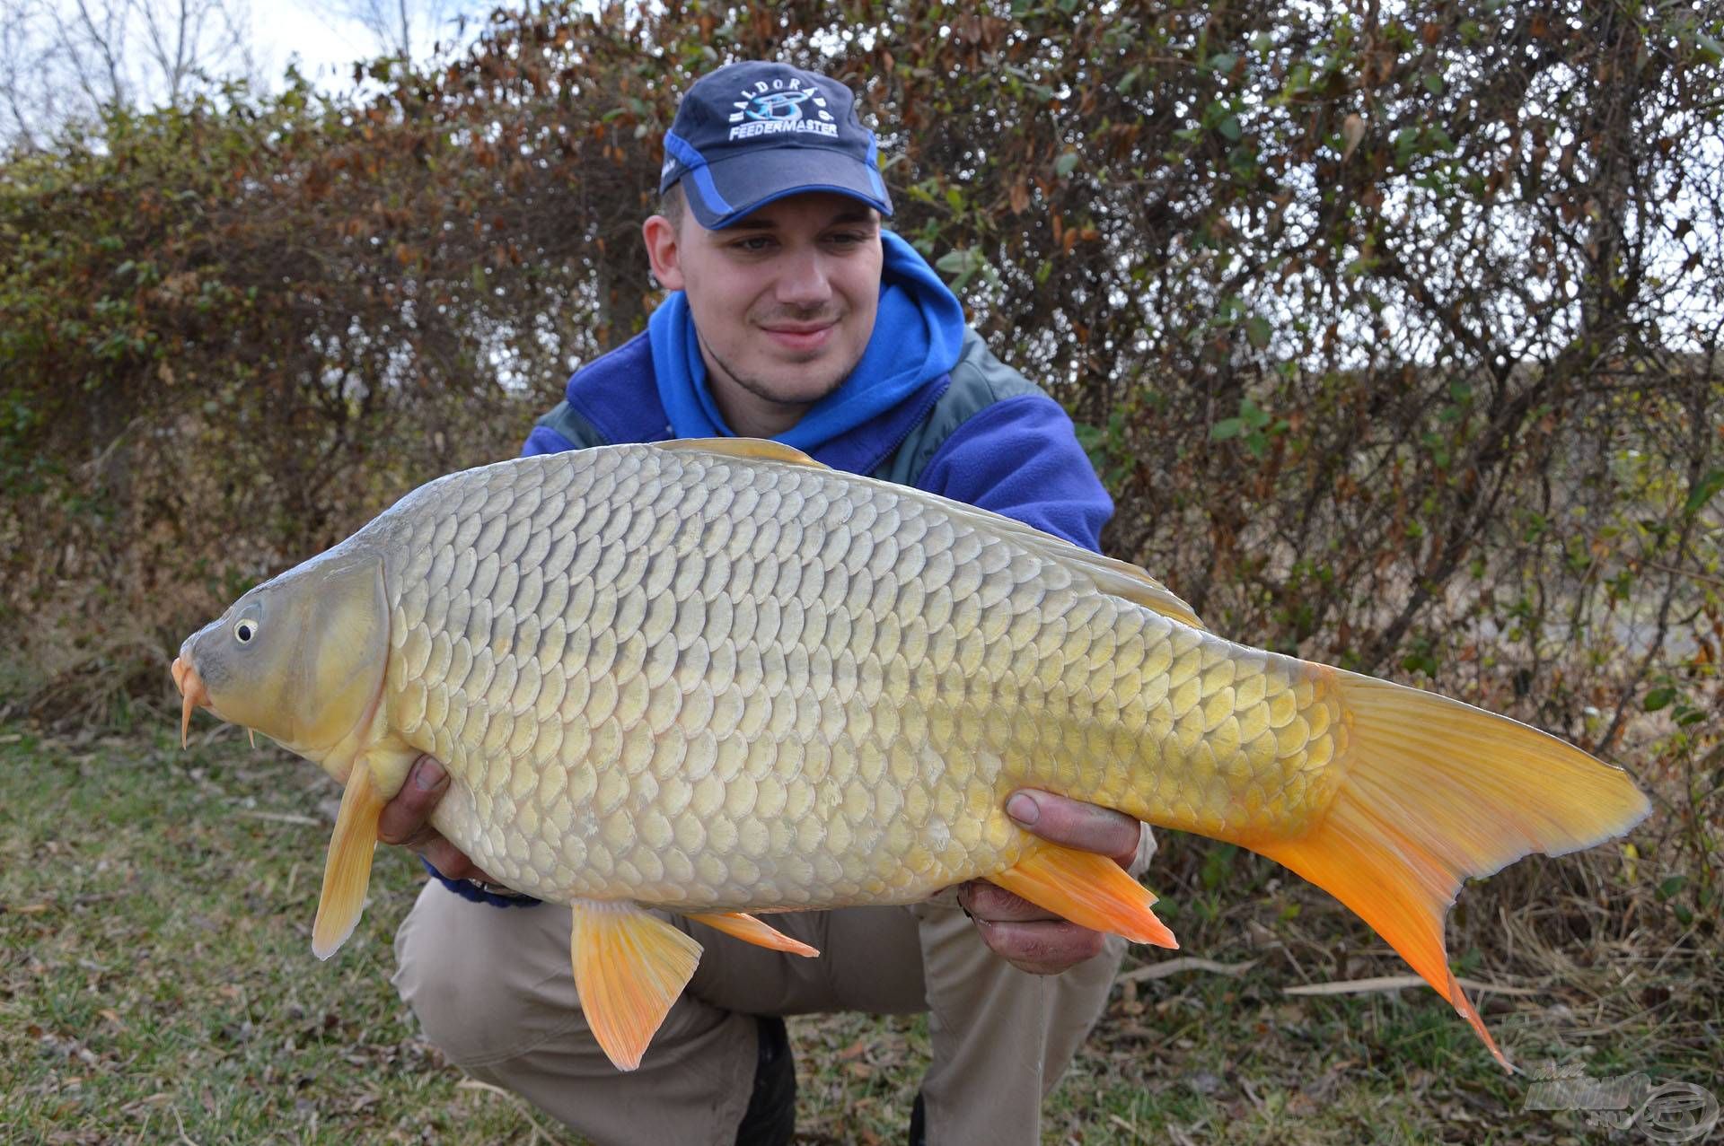
{"label": "man's hand gripping the carp near its tail, thumb and fingers", "polygon": [[[1095,851],[1129,867],[1143,825],[1124,812],[1022,788],[1005,801],[1022,827],[1057,844]],[[1057,975],[1102,953],[1102,932],[1079,927],[1005,888],[972,879],[959,888],[959,903],[976,920],[995,955],[1033,975]]]}

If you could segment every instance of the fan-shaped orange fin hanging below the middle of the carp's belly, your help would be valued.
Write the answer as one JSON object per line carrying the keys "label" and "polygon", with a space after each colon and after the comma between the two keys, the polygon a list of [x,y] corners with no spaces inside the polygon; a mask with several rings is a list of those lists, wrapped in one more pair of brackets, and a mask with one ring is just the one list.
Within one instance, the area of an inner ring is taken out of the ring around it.
{"label": "fan-shaped orange fin hanging below the middle of the carp's belly", "polygon": [[628,903],[586,901],[574,905],[569,955],[586,1025],[617,1070],[634,1070],[695,974],[700,944]]}

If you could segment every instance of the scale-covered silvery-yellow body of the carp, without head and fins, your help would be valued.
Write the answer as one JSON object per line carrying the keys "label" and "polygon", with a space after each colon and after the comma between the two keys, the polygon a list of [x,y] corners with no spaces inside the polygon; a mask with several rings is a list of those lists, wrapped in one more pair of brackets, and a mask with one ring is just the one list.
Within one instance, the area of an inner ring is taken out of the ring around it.
{"label": "scale-covered silvery-yellow body of the carp, without head and fins", "polygon": [[1024,784],[1241,839],[1334,784],[1333,696],[988,519],[646,448],[438,486],[376,522],[386,700],[471,793],[445,834],[541,898],[915,900],[1021,856]]}

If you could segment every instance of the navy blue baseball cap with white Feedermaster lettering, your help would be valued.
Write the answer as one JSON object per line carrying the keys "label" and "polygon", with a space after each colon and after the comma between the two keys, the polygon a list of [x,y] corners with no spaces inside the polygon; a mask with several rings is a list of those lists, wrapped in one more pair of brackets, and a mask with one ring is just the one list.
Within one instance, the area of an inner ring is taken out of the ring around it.
{"label": "navy blue baseball cap with white Feedermaster lettering", "polygon": [[836,191],[890,215],[878,152],[836,79],[788,64],[726,64],[683,93],[664,136],[659,195],[681,181],[709,231],[802,191]]}

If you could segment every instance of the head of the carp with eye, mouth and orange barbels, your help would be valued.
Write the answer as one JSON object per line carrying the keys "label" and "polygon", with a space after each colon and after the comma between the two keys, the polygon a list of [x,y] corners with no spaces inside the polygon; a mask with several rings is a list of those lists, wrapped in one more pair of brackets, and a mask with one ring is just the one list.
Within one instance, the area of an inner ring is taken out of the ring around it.
{"label": "head of the carp with eye, mouth and orange barbels", "polygon": [[341,548],[314,557],[179,646],[181,743],[203,707],[345,775],[378,710],[388,653],[381,558]]}

